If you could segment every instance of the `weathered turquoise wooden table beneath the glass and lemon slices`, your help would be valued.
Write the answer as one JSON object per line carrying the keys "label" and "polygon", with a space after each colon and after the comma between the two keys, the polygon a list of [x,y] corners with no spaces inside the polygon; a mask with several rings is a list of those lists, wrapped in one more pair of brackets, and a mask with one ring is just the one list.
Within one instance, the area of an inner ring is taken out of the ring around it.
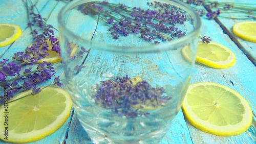
{"label": "weathered turquoise wooden table beneath the glass and lemon slices", "polygon": [[[256,1],[241,0],[237,2],[254,3]],[[64,2],[42,0],[37,8],[43,17],[49,17],[48,23],[58,28],[57,14],[65,5]],[[0,47],[0,58],[11,59],[15,52],[25,51],[26,46],[32,43],[30,30],[27,28],[27,13],[22,1],[0,1],[0,23],[19,25],[23,34],[14,43]],[[256,43],[248,42],[235,36],[231,28],[234,23],[243,21],[227,18],[207,20],[202,17],[202,36],[210,36],[212,41],[221,43],[236,55],[237,63],[227,69],[215,69],[197,63],[191,83],[216,82],[228,86],[249,102],[253,111],[253,123],[248,131],[238,136],[216,136],[198,130],[191,126],[182,111],[178,113],[172,127],[161,143],[256,143]],[[57,69],[59,75],[62,69]],[[44,85],[44,84],[42,84]],[[0,143],[5,143],[0,140]],[[78,122],[76,112],[72,110],[68,121],[55,133],[44,139],[32,143],[92,143],[86,131]]]}

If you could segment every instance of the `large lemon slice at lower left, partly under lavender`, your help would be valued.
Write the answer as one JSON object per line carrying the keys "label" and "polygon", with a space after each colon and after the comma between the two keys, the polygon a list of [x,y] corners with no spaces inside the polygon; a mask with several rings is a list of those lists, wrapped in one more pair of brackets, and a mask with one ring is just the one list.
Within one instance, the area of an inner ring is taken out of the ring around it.
{"label": "large lemon slice at lower left, partly under lavender", "polygon": [[[19,93],[12,100],[24,97],[31,91]],[[7,116],[0,118],[0,138],[15,143],[42,139],[66,122],[71,108],[69,94],[58,87],[47,87],[38,94],[7,104],[7,107],[3,105],[0,113]]]}

